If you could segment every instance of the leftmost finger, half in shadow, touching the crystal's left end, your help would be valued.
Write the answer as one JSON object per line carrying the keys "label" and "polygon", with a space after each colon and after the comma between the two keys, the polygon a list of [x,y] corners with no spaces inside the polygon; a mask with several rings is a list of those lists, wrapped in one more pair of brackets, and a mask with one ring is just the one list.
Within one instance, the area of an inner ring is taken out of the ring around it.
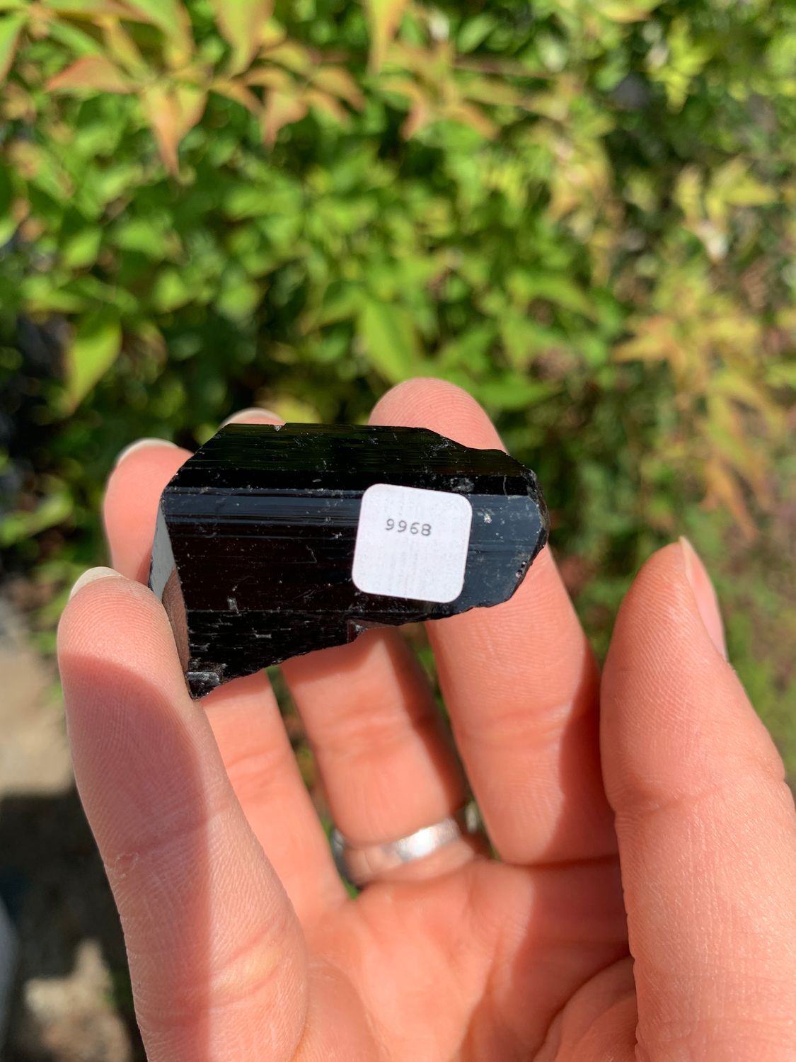
{"label": "leftmost finger, half in shadow, touching the crystal's left end", "polygon": [[153,595],[83,585],[58,629],[75,777],[119,907],[150,1062],[290,1059],[298,922],[248,827]]}

